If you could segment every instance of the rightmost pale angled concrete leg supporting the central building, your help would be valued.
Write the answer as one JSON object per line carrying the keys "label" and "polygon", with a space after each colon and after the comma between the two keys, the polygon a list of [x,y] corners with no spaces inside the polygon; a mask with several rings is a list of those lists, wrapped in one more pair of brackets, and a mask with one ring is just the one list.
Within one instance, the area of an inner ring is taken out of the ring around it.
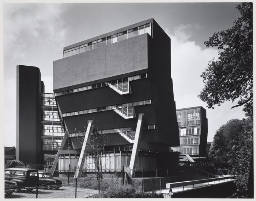
{"label": "rightmost pale angled concrete leg supporting the central building", "polygon": [[133,148],[132,148],[132,156],[131,156],[131,161],[130,161],[130,168],[132,172],[132,178],[134,178],[135,175],[135,166],[136,162],[138,160],[138,153],[139,153],[139,144],[140,144],[140,139],[142,135],[142,128],[143,128],[143,113],[139,113],[138,117],[138,123],[136,127],[136,132],[135,132],[135,139],[133,142]]}

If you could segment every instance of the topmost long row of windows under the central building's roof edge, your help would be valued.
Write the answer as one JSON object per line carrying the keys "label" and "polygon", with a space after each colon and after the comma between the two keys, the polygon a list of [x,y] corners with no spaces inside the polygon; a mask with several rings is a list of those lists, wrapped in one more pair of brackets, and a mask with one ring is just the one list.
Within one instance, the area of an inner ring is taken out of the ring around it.
{"label": "topmost long row of windows under the central building's roof edge", "polygon": [[94,40],[92,42],[89,42],[80,46],[76,46],[68,50],[64,50],[63,58],[70,57],[72,55],[83,53],[89,50],[97,49],[99,47],[110,45],[112,43],[116,43],[121,40],[132,38],[134,36],[138,36],[145,33],[148,33],[149,35],[151,35],[151,23],[145,24],[139,27],[135,27],[130,30],[126,30],[114,35],[110,35],[105,38]]}

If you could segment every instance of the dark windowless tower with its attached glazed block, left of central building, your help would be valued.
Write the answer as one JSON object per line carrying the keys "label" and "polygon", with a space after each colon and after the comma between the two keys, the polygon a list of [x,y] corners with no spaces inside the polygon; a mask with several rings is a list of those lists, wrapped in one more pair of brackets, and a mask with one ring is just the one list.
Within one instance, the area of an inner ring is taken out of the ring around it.
{"label": "dark windowless tower with its attached glazed block, left of central building", "polygon": [[44,164],[64,135],[53,94],[44,93],[38,67],[17,66],[16,159]]}

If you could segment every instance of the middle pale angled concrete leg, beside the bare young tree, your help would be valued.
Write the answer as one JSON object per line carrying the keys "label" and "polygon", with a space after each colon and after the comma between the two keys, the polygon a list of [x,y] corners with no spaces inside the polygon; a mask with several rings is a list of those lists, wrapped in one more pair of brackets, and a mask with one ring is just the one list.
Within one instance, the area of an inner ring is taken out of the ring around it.
{"label": "middle pale angled concrete leg, beside the bare young tree", "polygon": [[81,153],[80,153],[80,157],[79,157],[78,164],[77,164],[77,167],[76,167],[76,172],[75,172],[75,175],[74,175],[75,178],[81,177],[81,174],[82,174],[82,171],[79,171],[79,170],[83,169],[84,159],[85,159],[85,154],[86,154],[86,149],[85,148],[86,148],[88,139],[90,137],[89,135],[90,135],[90,129],[91,129],[92,122],[93,122],[92,120],[88,120],[88,126],[87,126],[86,133],[85,133],[85,136],[84,136],[82,150],[81,150]]}

